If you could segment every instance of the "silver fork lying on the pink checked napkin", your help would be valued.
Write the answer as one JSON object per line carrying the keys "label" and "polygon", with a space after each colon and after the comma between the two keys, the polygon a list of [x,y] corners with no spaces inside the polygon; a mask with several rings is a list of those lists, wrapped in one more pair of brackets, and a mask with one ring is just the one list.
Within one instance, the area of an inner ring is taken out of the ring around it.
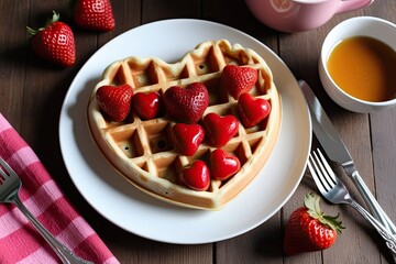
{"label": "silver fork lying on the pink checked napkin", "polygon": [[65,264],[92,264],[92,262],[86,261],[74,254],[69,249],[55,239],[50,231],[44,228],[41,222],[29,211],[19,198],[19,190],[21,189],[22,182],[16,173],[10,167],[9,164],[0,157],[0,202],[14,204],[29,221],[43,235],[45,241],[55,251],[58,257]]}

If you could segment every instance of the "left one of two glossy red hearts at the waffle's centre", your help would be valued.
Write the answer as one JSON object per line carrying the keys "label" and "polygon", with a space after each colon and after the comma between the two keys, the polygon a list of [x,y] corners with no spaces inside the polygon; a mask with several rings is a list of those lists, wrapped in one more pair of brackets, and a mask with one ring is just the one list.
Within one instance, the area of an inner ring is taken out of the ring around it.
{"label": "left one of two glossy red hearts at the waffle's centre", "polygon": [[170,139],[178,153],[193,156],[205,139],[205,130],[199,124],[176,123],[172,127]]}

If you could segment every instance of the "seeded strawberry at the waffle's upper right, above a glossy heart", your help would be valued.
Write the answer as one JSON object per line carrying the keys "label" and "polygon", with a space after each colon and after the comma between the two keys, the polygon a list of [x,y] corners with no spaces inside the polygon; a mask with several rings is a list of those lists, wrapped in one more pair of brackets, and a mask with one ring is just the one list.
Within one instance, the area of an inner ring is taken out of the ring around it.
{"label": "seeded strawberry at the waffle's upper right, above a glossy heart", "polygon": [[257,70],[251,67],[227,65],[221,74],[221,87],[238,100],[243,92],[249,92],[257,81]]}

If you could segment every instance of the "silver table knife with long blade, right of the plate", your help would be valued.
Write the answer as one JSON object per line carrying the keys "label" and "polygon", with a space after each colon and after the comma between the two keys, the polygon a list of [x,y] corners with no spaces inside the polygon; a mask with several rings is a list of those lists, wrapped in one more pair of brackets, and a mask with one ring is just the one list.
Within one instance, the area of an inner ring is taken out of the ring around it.
{"label": "silver table knife with long blade, right of the plate", "polygon": [[306,81],[299,80],[298,85],[300,86],[302,94],[308,102],[314,133],[323,147],[326,154],[331,161],[340,164],[343,167],[344,172],[352,179],[364,201],[367,204],[373,216],[382,224],[384,224],[386,229],[395,234],[395,224],[382,209],[375,197],[370,191],[369,187],[363,182],[353,164],[353,160],[346,150],[346,146],[344,145],[330,119],[326,114],[318,98],[315,96],[314,91]]}

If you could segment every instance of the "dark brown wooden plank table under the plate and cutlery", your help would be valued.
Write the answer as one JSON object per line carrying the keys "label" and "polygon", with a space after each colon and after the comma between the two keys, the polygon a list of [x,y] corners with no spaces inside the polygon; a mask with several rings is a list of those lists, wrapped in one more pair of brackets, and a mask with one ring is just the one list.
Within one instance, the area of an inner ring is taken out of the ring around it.
{"label": "dark brown wooden plank table under the plate and cutlery", "polygon": [[[282,253],[284,227],[308,191],[317,191],[309,177],[268,221],[227,241],[178,245],[146,240],[107,221],[79,195],[65,168],[58,140],[58,121],[67,89],[86,61],[105,43],[140,24],[170,18],[194,18],[239,29],[277,53],[297,79],[307,80],[348,145],[356,166],[377,200],[396,220],[396,109],[373,114],[352,113],[324,94],[317,69],[321,43],[339,22],[359,15],[374,15],[396,22],[396,1],[377,0],[371,7],[336,15],[318,30],[285,34],[261,24],[244,1],[226,0],[113,0],[117,28],[109,33],[90,33],[75,26],[77,63],[58,68],[32,54],[25,25],[37,28],[56,10],[70,22],[66,1],[0,0],[0,112],[33,147],[41,161],[100,234],[121,263],[391,263],[380,235],[352,208],[322,202],[329,213],[341,212],[348,228],[337,243],[323,252],[287,257]],[[72,22],[70,22],[72,24]],[[183,40],[180,40],[183,41]],[[315,144],[315,143],[314,143]],[[363,200],[351,182],[348,186]],[[139,216],[136,216],[139,217]]]}

